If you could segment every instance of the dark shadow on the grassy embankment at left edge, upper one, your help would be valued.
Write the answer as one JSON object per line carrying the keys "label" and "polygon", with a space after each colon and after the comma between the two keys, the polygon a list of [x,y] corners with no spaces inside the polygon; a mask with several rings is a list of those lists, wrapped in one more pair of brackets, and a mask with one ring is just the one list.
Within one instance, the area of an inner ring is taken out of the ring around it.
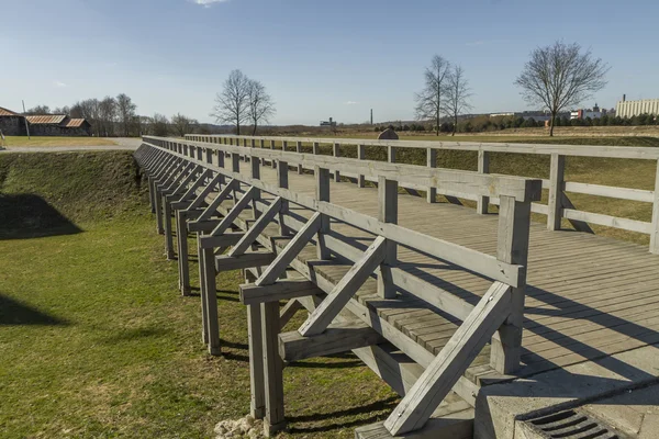
{"label": "dark shadow on the grassy embankment at left edge, upper one", "polygon": [[38,195],[0,194],[0,240],[74,235],[81,232]]}

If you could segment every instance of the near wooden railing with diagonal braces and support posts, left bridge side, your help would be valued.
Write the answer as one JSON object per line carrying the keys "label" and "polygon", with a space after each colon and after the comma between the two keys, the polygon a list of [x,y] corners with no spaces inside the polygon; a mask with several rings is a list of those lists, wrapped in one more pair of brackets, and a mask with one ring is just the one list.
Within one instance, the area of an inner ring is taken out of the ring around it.
{"label": "near wooden railing with diagonal braces and support posts, left bridge side", "polygon": [[[312,340],[316,349],[328,339],[336,345],[337,340],[332,339],[336,336],[332,334],[338,334],[344,347],[353,349],[360,346],[353,345],[355,342],[369,346],[383,337],[425,368],[386,423],[392,435],[421,428],[451,389],[472,402],[473,386],[461,375],[488,340],[491,339],[490,363],[496,371],[511,373],[518,368],[529,215],[532,202],[540,196],[539,180],[160,137],[144,137],[135,157],[148,175],[152,206],[157,213],[158,229],[166,235],[168,256],[174,258],[172,216],[177,218],[179,254],[181,246],[187,246],[182,241],[187,240],[188,229],[192,229],[193,224],[201,227],[198,230],[205,230],[199,235],[198,245],[203,335],[211,353],[219,353],[220,347],[215,273],[227,269],[265,267],[254,273],[249,284],[242,286],[242,299],[248,305],[250,327],[258,325],[264,328],[263,333],[250,331],[250,370],[253,404],[256,404],[255,401],[265,404],[265,412],[263,407],[253,407],[254,414],[265,416],[266,425],[283,423],[281,359],[277,350],[282,326],[279,320],[281,299],[322,296],[298,329],[298,344],[316,337]],[[261,179],[260,167],[265,162],[275,164],[276,184]],[[249,165],[248,172],[241,170],[241,164]],[[289,189],[290,167],[299,172],[313,169],[315,196]],[[342,172],[358,176],[358,181],[376,181],[379,217],[332,203],[332,171],[337,180]],[[438,194],[498,198],[501,207],[496,256],[398,225],[398,189],[403,184],[417,185]],[[231,207],[223,205],[228,200],[232,201]],[[308,210],[311,217],[291,213],[291,205]],[[254,221],[239,218],[245,210],[254,211]],[[210,227],[202,227],[217,213],[221,219],[210,222]],[[332,232],[330,218],[370,233],[372,243],[366,251],[355,247],[354,243]],[[188,229],[181,228],[186,219],[196,219],[189,223]],[[266,227],[272,223],[278,224],[281,236],[289,237],[286,246],[278,247],[275,240],[264,235]],[[231,227],[235,225],[242,232],[232,232]],[[299,260],[300,251],[310,243],[316,247],[317,259],[335,257],[354,263],[353,268],[336,284],[315,275],[315,268]],[[255,245],[265,251],[249,251]],[[217,248],[230,246],[227,255],[216,256]],[[472,305],[400,269],[396,246],[490,279],[491,288],[478,304]],[[183,290],[187,282],[182,273],[187,269],[182,267],[185,263],[182,255],[179,255]],[[289,266],[304,278],[302,283],[281,280]],[[403,291],[461,320],[448,341],[447,347],[450,348],[435,357],[356,301],[353,297],[355,293],[373,275],[377,293],[383,300],[393,299],[398,291]],[[309,283],[314,288],[310,289]],[[339,318],[342,312],[351,313],[353,319],[346,324]],[[345,339],[340,331],[327,333],[333,322],[344,325],[340,328],[353,325],[351,329],[359,329],[359,337]],[[364,329],[375,336],[365,336]]]}

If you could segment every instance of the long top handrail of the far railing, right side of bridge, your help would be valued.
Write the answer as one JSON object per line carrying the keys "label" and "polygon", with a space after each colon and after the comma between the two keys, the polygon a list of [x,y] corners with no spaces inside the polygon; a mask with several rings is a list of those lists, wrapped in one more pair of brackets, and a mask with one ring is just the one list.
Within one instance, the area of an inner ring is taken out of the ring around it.
{"label": "long top handrail of the far railing, right side of bridge", "polygon": [[600,157],[600,158],[633,158],[658,160],[659,148],[645,146],[602,146],[602,145],[556,145],[556,144],[523,144],[523,143],[493,143],[493,142],[442,142],[442,140],[378,140],[372,138],[351,137],[294,137],[294,136],[236,136],[233,134],[186,134],[191,137],[233,137],[246,140],[276,140],[325,143],[338,145],[366,145],[395,148],[418,148],[437,150],[466,150],[488,153],[514,153],[550,156],[559,154],[572,157]]}

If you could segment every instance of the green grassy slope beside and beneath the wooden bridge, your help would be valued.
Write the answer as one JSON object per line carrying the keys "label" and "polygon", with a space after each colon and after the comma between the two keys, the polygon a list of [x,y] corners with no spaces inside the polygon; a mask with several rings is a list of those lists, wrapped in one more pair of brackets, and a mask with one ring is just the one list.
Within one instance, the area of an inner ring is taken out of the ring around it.
{"label": "green grassy slope beside and beneath the wooden bridge", "polygon": [[[40,193],[83,230],[0,237],[0,437],[211,437],[217,421],[248,413],[238,273],[219,278],[225,348],[211,358],[199,299],[177,291],[130,157],[0,157],[5,195]],[[353,437],[395,402],[351,357],[290,367],[284,385],[284,437]]]}

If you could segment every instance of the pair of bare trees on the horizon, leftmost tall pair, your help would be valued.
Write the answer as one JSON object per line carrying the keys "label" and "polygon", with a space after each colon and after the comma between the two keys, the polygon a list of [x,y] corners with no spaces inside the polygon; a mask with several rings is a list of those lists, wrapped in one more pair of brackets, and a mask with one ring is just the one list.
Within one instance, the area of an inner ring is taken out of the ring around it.
{"label": "pair of bare trees on the horizon, leftmost tall pair", "polygon": [[250,124],[254,135],[257,126],[268,123],[275,112],[275,102],[265,86],[241,70],[233,70],[215,97],[211,116],[217,123],[235,125],[237,135],[241,135],[241,126]]}

